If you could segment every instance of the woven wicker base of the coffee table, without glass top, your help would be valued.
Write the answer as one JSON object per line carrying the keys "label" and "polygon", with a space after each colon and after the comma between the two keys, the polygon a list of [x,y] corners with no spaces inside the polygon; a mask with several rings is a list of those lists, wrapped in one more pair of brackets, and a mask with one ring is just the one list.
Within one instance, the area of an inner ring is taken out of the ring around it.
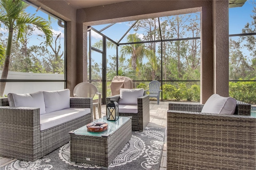
{"label": "woven wicker base of the coffee table, without glass top", "polygon": [[131,119],[109,136],[78,135],[70,132],[70,161],[107,168],[131,137]]}

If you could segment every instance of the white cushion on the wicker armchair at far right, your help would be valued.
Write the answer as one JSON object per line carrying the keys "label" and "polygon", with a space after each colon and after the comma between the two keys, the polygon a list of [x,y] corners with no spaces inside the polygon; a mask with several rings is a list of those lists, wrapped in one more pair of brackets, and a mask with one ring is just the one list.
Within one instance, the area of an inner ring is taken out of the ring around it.
{"label": "white cushion on the wicker armchair at far right", "polygon": [[218,94],[213,94],[204,104],[202,113],[233,115],[235,110],[236,99],[232,97],[222,97]]}

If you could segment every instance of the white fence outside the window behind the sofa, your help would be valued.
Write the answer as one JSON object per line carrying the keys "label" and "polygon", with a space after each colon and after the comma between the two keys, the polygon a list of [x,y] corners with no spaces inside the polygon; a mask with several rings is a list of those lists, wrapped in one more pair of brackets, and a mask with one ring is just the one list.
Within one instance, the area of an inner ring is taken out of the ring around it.
{"label": "white fence outside the window behind the sofa", "polygon": [[[0,70],[0,76],[2,70]],[[64,80],[64,74],[49,73],[23,73],[9,71],[7,79],[24,79],[24,80]],[[4,89],[4,95],[8,93],[33,93],[36,91],[52,91],[64,89],[65,82],[7,82]]]}

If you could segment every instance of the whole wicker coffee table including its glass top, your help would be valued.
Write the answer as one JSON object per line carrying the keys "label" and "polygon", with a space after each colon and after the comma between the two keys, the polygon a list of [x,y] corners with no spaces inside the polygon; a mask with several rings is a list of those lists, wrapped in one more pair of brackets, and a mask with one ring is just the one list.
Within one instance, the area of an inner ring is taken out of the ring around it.
{"label": "whole wicker coffee table including its glass top", "polygon": [[108,130],[88,132],[84,126],[69,132],[70,162],[87,163],[107,169],[132,137],[132,119],[119,117],[117,121],[107,121],[104,116],[94,122],[108,123]]}

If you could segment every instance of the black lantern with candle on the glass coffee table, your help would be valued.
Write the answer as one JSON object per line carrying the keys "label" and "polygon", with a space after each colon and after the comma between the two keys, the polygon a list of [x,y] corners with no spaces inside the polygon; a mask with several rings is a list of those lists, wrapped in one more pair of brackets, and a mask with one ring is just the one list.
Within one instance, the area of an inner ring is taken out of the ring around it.
{"label": "black lantern with candle on the glass coffee table", "polygon": [[110,100],[107,104],[107,120],[116,121],[119,118],[118,103]]}

